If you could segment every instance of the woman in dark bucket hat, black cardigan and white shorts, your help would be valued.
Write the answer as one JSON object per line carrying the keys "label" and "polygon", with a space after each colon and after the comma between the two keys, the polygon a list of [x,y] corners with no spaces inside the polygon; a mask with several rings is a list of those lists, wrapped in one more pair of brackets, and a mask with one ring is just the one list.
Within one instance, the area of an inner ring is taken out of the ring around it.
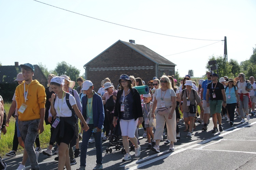
{"label": "woman in dark bucket hat, black cardigan and white shorts", "polygon": [[116,117],[119,117],[120,129],[123,137],[123,146],[126,154],[123,160],[131,160],[129,151],[129,141],[135,146],[135,157],[140,156],[140,146],[135,137],[135,130],[138,122],[143,122],[140,94],[138,90],[132,88],[128,75],[122,74],[118,80],[121,89],[117,92],[114,111],[113,125],[116,126]]}

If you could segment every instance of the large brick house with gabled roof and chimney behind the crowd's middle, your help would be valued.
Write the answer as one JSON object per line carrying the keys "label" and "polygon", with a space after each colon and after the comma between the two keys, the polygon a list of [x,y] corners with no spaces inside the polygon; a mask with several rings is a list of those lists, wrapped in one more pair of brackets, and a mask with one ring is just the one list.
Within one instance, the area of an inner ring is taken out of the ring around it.
{"label": "large brick house with gabled roof and chimney behind the crowd's middle", "polygon": [[140,77],[147,84],[153,77],[160,78],[163,73],[174,75],[175,64],[151,49],[118,40],[112,46],[84,65],[85,79],[93,82],[95,91],[101,87],[101,81],[109,77],[115,87],[121,74]]}

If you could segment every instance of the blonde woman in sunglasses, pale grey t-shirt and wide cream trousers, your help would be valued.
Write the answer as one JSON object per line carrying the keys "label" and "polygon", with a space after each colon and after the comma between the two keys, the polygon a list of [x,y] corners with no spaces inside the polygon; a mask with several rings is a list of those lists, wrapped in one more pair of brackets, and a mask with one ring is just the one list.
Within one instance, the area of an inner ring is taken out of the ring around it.
{"label": "blonde woman in sunglasses, pale grey t-shirt and wide cream trousers", "polygon": [[[156,131],[154,140],[156,145],[152,147],[152,151],[159,153],[159,144],[162,139],[163,128],[167,126],[167,140],[170,141],[169,150],[174,150],[174,142],[176,142],[176,94],[172,88],[171,82],[166,75],[162,75],[160,79],[160,88],[156,89],[154,95],[154,103],[152,113],[156,110]],[[151,117],[155,117],[154,114]]]}

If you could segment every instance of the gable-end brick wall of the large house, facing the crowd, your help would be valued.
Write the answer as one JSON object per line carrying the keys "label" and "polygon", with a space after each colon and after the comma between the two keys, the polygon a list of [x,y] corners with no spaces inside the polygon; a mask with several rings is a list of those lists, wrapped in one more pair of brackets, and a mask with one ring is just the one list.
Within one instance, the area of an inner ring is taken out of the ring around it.
{"label": "gable-end brick wall of the large house, facing the crowd", "polygon": [[147,84],[156,76],[156,63],[118,42],[86,66],[87,80],[93,82],[95,91],[100,83],[109,77],[115,87],[121,74],[140,77]]}

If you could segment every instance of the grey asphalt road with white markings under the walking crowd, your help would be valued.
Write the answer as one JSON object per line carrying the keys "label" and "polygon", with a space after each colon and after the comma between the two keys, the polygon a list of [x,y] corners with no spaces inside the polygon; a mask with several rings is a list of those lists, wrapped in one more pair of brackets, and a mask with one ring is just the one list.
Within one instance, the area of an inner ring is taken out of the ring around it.
{"label": "grey asphalt road with white markings under the walking crowd", "polygon": [[[234,126],[230,126],[226,120],[223,121],[223,132],[212,133],[212,121],[208,125],[208,131],[201,131],[202,125],[197,123],[192,137],[187,137],[184,123],[180,122],[181,139],[174,143],[175,150],[169,151],[169,146],[160,142],[160,153],[146,150],[146,138],[141,138],[141,155],[136,158],[131,151],[131,160],[123,162],[124,154],[112,147],[112,153],[106,153],[108,141],[102,144],[103,168],[113,169],[256,169],[256,116],[250,121],[240,123],[241,119],[235,118]],[[140,129],[139,136],[143,134]],[[166,137],[164,137],[166,139]],[[81,142],[81,141],[80,141]],[[80,143],[81,144],[81,143]],[[48,157],[40,153],[39,164],[41,170],[57,169],[58,162],[54,160],[57,155]],[[8,164],[7,169],[13,170],[22,161],[22,155],[13,158],[4,158]],[[80,157],[76,158],[77,164],[72,165],[75,170],[80,167]],[[96,150],[94,143],[89,143],[87,152],[86,169],[93,169],[96,165]],[[26,163],[28,170],[29,162]]]}

